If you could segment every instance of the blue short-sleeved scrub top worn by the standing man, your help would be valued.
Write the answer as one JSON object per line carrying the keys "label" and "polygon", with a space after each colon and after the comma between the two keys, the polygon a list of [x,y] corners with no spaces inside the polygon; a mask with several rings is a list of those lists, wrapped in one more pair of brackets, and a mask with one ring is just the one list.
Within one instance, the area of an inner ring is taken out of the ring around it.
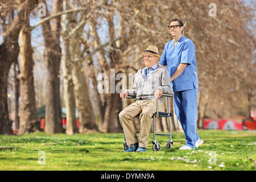
{"label": "blue short-sleeved scrub top worn by the standing man", "polygon": [[198,88],[195,45],[185,36],[181,36],[176,48],[174,48],[174,39],[167,42],[159,61],[159,64],[167,65],[170,77],[174,75],[180,63],[187,63],[187,67],[171,82],[172,92]]}

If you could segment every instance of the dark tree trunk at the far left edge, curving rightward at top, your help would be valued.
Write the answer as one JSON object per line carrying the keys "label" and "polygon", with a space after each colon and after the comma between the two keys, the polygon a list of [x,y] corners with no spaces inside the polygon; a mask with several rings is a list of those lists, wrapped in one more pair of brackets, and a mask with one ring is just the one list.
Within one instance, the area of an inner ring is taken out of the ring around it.
{"label": "dark tree trunk at the far left edge, curving rightward at top", "polygon": [[7,107],[7,77],[11,64],[17,60],[19,55],[18,37],[24,17],[29,17],[31,9],[34,9],[37,3],[38,1],[35,0],[27,0],[23,3],[22,10],[9,24],[6,36],[0,46],[0,134],[13,134]]}

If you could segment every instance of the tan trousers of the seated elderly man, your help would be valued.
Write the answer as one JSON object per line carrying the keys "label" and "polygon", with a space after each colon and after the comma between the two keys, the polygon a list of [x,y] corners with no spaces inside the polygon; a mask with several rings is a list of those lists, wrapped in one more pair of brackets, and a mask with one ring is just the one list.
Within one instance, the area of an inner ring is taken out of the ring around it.
{"label": "tan trousers of the seated elderly man", "polygon": [[[163,105],[160,102],[158,102],[158,110],[163,111]],[[143,100],[134,102],[119,113],[120,123],[123,127],[123,132],[128,145],[139,143],[139,147],[147,147],[152,123],[151,117],[155,112],[156,101]],[[136,130],[133,125],[133,118],[139,113],[141,113],[139,117],[139,119],[141,119],[141,131],[138,140]]]}

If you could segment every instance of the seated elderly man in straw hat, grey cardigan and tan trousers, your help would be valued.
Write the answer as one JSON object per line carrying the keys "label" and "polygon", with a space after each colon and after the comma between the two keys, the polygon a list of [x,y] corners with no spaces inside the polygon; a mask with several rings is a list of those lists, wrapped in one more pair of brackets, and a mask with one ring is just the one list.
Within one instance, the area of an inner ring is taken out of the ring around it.
{"label": "seated elderly man in straw hat, grey cardigan and tan trousers", "polygon": [[[161,57],[158,54],[158,48],[148,46],[142,54],[146,67],[139,69],[137,72],[134,88],[123,90],[120,93],[122,100],[125,100],[127,96],[135,98],[133,104],[119,113],[119,120],[129,146],[124,148],[124,152],[145,152],[147,150],[152,116],[157,109],[158,111],[163,110],[163,98],[161,98],[163,93],[171,92],[170,75],[167,68],[156,64]],[[139,115],[141,121],[139,139],[133,125],[133,118],[137,115]]]}

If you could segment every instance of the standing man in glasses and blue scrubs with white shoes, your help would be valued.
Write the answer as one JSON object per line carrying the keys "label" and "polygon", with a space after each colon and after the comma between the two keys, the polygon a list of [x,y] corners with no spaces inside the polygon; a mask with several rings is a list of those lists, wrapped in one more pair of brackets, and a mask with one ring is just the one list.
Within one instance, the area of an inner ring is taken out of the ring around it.
{"label": "standing man in glasses and blue scrubs with white shoes", "polygon": [[174,39],[164,46],[159,65],[167,65],[175,114],[185,133],[186,143],[179,150],[192,150],[204,142],[196,133],[198,81],[195,45],[182,35],[181,20],[171,20],[168,29]]}

